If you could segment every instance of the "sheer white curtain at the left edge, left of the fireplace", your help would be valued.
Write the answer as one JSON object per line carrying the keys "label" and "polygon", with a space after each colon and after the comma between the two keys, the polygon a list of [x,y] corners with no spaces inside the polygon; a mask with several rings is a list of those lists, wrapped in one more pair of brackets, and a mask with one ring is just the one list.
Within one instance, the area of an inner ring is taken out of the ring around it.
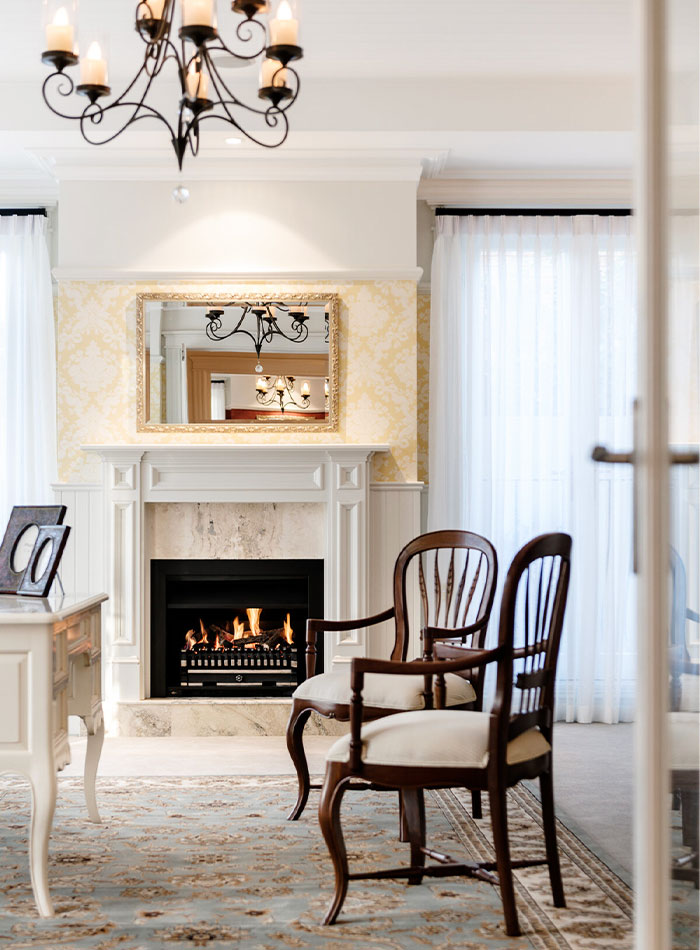
{"label": "sheer white curtain at the left edge, left of the fireplace", "polygon": [[52,504],[56,342],[46,218],[0,216],[0,534],[13,505]]}

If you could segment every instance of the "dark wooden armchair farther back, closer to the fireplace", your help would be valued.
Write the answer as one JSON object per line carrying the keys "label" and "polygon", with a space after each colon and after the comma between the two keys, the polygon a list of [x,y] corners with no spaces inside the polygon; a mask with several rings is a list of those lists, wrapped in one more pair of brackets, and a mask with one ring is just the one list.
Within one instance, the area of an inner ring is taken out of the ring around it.
{"label": "dark wooden armchair farther back, closer to the fireplace", "polygon": [[[309,620],[306,626],[306,676],[292,697],[287,724],[287,748],[299,781],[296,805],[289,814],[294,821],[303,812],[312,786],[304,752],[303,731],[315,710],[321,716],[347,722],[350,718],[350,670],[316,673],[316,641],[325,631],[349,631],[395,619],[391,660],[406,660],[409,641],[406,597],[409,567],[417,559],[423,619],[423,654],[430,659],[434,644],[447,641],[467,647],[482,647],[496,590],[498,559],[490,541],[470,531],[433,531],[410,541],[394,566],[394,606],[363,620]],[[432,576],[431,576],[432,575]],[[431,577],[428,584],[426,577]],[[454,647],[453,647],[454,649]],[[363,716],[379,719],[392,713],[432,705],[430,677],[411,665],[412,675],[401,680],[380,673],[368,678]],[[471,677],[471,681],[470,681]],[[481,709],[483,671],[461,668],[445,679],[445,705]],[[480,793],[474,796],[475,816],[481,808]]]}

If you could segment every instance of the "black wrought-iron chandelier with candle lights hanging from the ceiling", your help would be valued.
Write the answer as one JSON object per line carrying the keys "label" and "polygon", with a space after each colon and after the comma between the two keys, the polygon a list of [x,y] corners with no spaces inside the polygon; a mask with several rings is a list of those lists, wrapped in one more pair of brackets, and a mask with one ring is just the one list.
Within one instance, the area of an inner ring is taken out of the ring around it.
{"label": "black wrought-iron chandelier with candle lights hanging from the ceiling", "polygon": [[[87,142],[105,145],[136,122],[157,120],[167,128],[182,169],[187,150],[193,155],[199,151],[200,128],[207,120],[226,122],[266,148],[276,148],[287,138],[287,110],[299,93],[299,76],[289,64],[302,57],[298,0],[232,0],[231,9],[240,15],[232,46],[219,33],[215,0],[179,0],[179,27],[175,26],[177,0],[142,0],[136,5],[135,22],[145,45],[143,65],[126,88],[106,103],[112,90],[105,43],[91,38],[87,49],[78,53],[77,4],[78,0],[44,0],[47,48],[41,58],[54,72],[44,80],[42,95],[52,112],[78,123]],[[258,17],[268,12],[266,26]],[[260,107],[243,102],[229,88],[220,71],[222,57],[233,57],[239,65],[261,59]],[[76,84],[65,70],[78,63]],[[174,122],[147,101],[154,81],[171,66],[180,86]],[[74,91],[88,102],[82,111],[69,114],[61,100]],[[117,119],[116,130],[104,121],[108,116]],[[246,131],[242,124],[246,116],[260,117],[275,133],[274,141],[261,141]]]}

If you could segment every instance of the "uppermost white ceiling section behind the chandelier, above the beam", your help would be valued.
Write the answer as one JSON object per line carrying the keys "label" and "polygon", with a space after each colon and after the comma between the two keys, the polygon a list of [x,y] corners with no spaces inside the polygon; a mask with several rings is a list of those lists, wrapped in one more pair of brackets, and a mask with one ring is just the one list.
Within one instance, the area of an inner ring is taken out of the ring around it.
{"label": "uppermost white ceiling section behind the chandelier, above the beam", "polygon": [[[218,0],[219,23],[238,20]],[[0,81],[42,74],[41,0],[3,4]],[[106,25],[113,63],[136,62],[136,2],[83,0],[81,22]],[[303,0],[306,76],[628,74],[632,0]]]}

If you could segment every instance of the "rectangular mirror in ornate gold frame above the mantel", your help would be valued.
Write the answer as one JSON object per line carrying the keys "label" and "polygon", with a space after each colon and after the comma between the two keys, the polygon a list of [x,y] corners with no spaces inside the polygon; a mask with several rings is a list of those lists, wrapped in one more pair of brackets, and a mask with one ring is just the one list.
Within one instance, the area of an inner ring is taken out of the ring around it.
{"label": "rectangular mirror in ornate gold frame above the mantel", "polygon": [[138,294],[138,431],[336,431],[339,305],[321,293]]}

